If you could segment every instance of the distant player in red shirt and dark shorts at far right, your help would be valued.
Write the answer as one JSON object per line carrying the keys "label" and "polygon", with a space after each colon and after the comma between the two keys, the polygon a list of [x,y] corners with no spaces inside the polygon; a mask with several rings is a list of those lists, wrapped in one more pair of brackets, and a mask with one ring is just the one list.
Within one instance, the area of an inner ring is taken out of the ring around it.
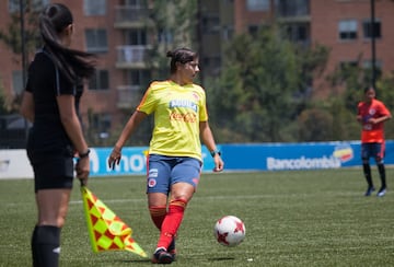
{"label": "distant player in red shirt and dark shorts at far right", "polygon": [[366,176],[368,188],[366,196],[370,196],[374,190],[370,158],[373,158],[381,178],[381,188],[376,196],[383,197],[386,193],[386,179],[384,167],[384,129],[383,124],[391,118],[386,106],[375,98],[374,88],[364,89],[363,102],[358,104],[357,120],[361,124],[361,160],[363,174]]}

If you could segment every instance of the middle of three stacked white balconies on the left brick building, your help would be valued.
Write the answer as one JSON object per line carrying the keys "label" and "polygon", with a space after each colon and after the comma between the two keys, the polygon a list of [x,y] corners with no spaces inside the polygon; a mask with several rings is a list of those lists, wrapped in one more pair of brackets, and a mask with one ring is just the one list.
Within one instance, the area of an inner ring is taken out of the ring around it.
{"label": "middle of three stacked white balconies on the left brick building", "polygon": [[116,67],[121,69],[146,69],[149,60],[149,46],[117,46]]}

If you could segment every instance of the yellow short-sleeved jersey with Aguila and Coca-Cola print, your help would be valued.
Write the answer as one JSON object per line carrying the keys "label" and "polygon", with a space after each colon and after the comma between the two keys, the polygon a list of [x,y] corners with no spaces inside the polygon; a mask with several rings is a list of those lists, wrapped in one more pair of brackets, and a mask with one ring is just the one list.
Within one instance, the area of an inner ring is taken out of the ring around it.
{"label": "yellow short-sleeved jersey with Aguila and Coca-Cola print", "polygon": [[201,161],[199,123],[208,120],[206,94],[196,84],[152,82],[137,111],[154,113],[149,153],[192,156]]}

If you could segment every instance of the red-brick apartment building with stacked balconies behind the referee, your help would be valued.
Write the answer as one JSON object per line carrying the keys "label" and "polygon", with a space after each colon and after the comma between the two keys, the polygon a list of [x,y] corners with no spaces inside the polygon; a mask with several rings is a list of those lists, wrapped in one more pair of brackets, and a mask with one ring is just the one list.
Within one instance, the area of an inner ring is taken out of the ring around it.
{"label": "red-brick apartment building with stacked balconies behind the referee", "polygon": [[[53,0],[33,0],[47,4]],[[72,10],[76,34],[72,47],[99,56],[95,77],[85,85],[81,102],[84,125],[93,128],[99,138],[114,125],[123,124],[141,97],[141,83],[150,79],[147,55],[153,42],[149,7],[143,0],[57,0]],[[0,27],[11,23],[19,12],[19,0],[0,1]],[[28,27],[28,25],[26,25]],[[0,44],[3,63],[0,67],[5,95],[14,97],[23,91],[22,62]],[[32,60],[34,55],[28,55]],[[144,84],[146,85],[146,84]]]}

